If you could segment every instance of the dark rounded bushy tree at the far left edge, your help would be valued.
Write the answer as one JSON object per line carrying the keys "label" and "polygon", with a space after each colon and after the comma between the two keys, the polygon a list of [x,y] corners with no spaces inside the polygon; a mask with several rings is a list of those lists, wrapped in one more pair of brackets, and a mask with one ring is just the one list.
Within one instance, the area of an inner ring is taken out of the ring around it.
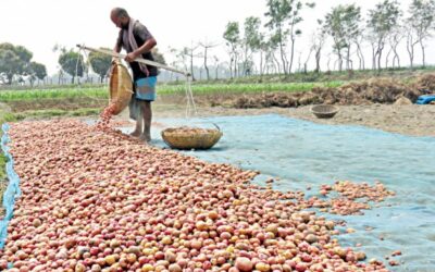
{"label": "dark rounded bushy tree at the far left edge", "polygon": [[5,75],[7,84],[12,84],[14,75],[22,76],[28,72],[32,57],[33,53],[25,47],[0,44],[0,74]]}

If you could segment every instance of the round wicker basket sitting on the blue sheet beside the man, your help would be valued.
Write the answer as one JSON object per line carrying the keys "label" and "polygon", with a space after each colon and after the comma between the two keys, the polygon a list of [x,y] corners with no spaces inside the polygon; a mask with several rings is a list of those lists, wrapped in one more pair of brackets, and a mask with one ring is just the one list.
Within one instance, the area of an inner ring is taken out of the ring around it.
{"label": "round wicker basket sitting on the blue sheet beside the man", "polygon": [[176,127],[162,131],[162,138],[166,145],[175,149],[209,149],[222,137],[221,129]]}

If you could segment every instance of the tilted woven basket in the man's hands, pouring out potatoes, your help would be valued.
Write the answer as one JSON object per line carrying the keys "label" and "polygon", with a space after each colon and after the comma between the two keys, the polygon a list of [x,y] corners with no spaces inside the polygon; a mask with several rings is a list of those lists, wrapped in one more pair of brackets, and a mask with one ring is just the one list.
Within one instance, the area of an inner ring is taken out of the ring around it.
{"label": "tilted woven basket in the man's hands, pouring out potatoes", "polygon": [[110,73],[110,103],[115,104],[113,114],[120,114],[129,103],[133,94],[133,82],[128,70],[116,59],[112,62]]}

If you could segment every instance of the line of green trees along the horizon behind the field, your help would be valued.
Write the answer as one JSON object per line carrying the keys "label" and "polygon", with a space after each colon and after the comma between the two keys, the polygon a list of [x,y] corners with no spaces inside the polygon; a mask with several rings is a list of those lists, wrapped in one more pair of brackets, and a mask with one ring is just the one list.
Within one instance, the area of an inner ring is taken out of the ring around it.
{"label": "line of green trees along the horizon behind the field", "polygon": [[[435,0],[412,0],[407,15],[397,0],[382,0],[369,9],[365,20],[361,7],[356,3],[333,7],[324,17],[316,20],[316,29],[306,48],[307,57],[301,60],[301,54],[296,55],[296,48],[302,35],[303,11],[314,7],[314,3],[302,0],[266,0],[265,22],[249,16],[243,25],[238,22],[226,24],[222,37],[227,62],[211,53],[219,46],[216,42],[206,41],[192,42],[183,49],[171,49],[170,53],[175,55],[175,60],[170,65],[190,71],[195,76],[194,70],[198,69],[195,62],[199,59],[207,79],[211,78],[210,66],[214,71],[221,66],[233,78],[251,74],[288,75],[300,70],[307,72],[308,63],[314,58],[314,72],[319,73],[326,45],[330,44],[328,71],[400,67],[399,45],[406,47],[411,69],[418,50],[422,65],[426,65],[426,41],[435,30]],[[371,49],[370,64],[366,63],[364,47]],[[55,46],[53,51],[60,54],[59,81],[69,74],[74,83],[75,77],[89,73],[90,67],[101,82],[108,75],[111,63],[109,55],[90,52],[85,59],[83,53],[61,46]],[[157,61],[166,64],[163,54],[159,51],[154,54]],[[14,76],[26,76],[32,84],[36,79],[44,79],[47,76],[46,66],[32,61],[32,58],[33,53],[23,46],[0,44],[0,82],[11,84]],[[297,58],[299,66],[295,69]]]}

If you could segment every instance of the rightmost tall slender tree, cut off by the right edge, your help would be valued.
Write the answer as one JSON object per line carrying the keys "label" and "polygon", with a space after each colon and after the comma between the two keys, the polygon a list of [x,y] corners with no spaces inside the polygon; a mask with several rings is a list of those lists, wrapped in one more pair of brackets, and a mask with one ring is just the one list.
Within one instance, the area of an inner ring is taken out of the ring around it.
{"label": "rightmost tall slender tree, cut off by the right edge", "polygon": [[[426,65],[424,41],[431,37],[435,21],[435,0],[412,0],[407,25],[414,32],[422,50],[423,66]],[[413,42],[411,42],[412,45]],[[412,66],[412,64],[411,64]]]}

